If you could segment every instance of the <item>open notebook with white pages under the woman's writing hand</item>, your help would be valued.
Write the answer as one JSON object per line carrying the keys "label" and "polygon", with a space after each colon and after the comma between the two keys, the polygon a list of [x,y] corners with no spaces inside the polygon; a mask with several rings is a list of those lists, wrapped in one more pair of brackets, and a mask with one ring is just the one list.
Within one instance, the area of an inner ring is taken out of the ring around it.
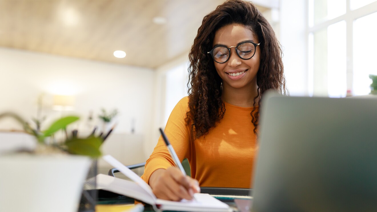
{"label": "open notebook with white pages under the woman's writing hand", "polygon": [[120,172],[130,178],[132,181],[123,180],[109,175],[97,175],[97,188],[111,191],[145,203],[156,205],[160,210],[176,211],[208,211],[208,212],[228,212],[230,207],[212,197],[209,194],[194,194],[195,200],[168,201],[156,198],[150,186],[144,182],[137,174],[124,166],[114,157],[107,155],[103,159],[110,165],[117,168]]}

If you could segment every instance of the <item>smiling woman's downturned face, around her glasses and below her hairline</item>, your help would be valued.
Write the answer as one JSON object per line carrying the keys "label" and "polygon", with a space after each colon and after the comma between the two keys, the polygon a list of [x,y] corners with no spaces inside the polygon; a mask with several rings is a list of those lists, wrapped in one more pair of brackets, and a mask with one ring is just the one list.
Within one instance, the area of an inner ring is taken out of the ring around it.
{"label": "smiling woman's downturned face, around her glasses and below her hairline", "polygon": [[[250,29],[242,24],[229,24],[221,27],[215,33],[213,47],[224,45],[227,47],[237,46],[243,41],[251,41],[258,44],[259,40]],[[225,63],[215,63],[217,73],[222,79],[223,89],[232,88],[256,88],[256,75],[261,62],[261,49],[255,49],[255,55],[250,59],[241,59],[235,50],[230,48],[230,58]],[[236,76],[233,76],[235,74]]]}

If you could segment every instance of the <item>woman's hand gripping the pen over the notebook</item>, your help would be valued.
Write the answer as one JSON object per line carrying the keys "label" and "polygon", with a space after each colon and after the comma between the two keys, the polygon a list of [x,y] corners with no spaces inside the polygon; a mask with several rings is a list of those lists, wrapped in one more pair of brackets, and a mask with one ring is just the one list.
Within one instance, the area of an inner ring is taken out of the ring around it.
{"label": "woman's hand gripping the pen over the notebook", "polygon": [[184,175],[174,166],[154,171],[150,175],[149,185],[156,197],[164,200],[192,200],[194,193],[200,193],[198,180]]}

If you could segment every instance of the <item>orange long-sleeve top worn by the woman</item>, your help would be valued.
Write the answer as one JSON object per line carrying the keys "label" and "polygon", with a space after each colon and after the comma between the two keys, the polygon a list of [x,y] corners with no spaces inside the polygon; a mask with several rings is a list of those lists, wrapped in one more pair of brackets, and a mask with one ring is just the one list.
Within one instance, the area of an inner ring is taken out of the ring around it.
{"label": "orange long-sleeve top worn by the woman", "polygon": [[[224,118],[205,137],[193,140],[185,124],[189,98],[178,102],[167,121],[165,133],[179,159],[187,158],[191,177],[200,186],[250,188],[254,157],[257,152],[252,107],[243,108],[225,102]],[[146,162],[143,180],[149,182],[153,171],[174,166],[164,140],[160,136]]]}

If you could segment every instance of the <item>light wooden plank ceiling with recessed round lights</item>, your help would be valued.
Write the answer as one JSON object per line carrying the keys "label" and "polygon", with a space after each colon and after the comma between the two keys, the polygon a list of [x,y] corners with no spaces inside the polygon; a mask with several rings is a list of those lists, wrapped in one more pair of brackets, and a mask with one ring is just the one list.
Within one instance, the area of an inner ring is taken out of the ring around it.
{"label": "light wooden plank ceiling with recessed round lights", "polygon": [[[156,68],[187,54],[204,15],[222,2],[0,0],[0,46]],[[115,50],[127,56],[115,58]]]}

